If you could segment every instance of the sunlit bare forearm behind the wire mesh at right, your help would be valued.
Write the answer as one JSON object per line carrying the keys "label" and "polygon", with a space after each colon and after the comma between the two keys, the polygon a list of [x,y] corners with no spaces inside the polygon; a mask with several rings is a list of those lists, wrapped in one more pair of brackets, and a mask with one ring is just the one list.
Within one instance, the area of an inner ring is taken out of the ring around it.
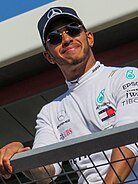
{"label": "sunlit bare forearm behind the wire mesh at right", "polygon": [[[130,151],[127,147],[122,146],[120,147],[120,149],[123,152],[125,158],[134,157],[133,152]],[[121,151],[118,148],[113,149],[111,162],[124,159]],[[127,161],[122,160],[112,163],[112,166],[109,167],[108,173],[105,177],[106,184],[117,184],[119,183],[119,178],[121,179],[121,181],[125,181],[125,179],[131,172],[131,168],[133,167],[135,160],[135,158],[132,158],[128,159]]]}

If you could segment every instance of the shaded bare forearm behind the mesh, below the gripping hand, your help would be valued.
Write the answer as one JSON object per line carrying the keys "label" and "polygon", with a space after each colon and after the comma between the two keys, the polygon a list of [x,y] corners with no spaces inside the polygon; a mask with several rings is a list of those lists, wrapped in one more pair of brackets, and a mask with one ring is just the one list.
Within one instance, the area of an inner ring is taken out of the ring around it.
{"label": "shaded bare forearm behind the mesh, below the gripping hand", "polygon": [[39,167],[23,172],[30,180],[37,180],[37,184],[48,184],[55,175],[54,165]]}

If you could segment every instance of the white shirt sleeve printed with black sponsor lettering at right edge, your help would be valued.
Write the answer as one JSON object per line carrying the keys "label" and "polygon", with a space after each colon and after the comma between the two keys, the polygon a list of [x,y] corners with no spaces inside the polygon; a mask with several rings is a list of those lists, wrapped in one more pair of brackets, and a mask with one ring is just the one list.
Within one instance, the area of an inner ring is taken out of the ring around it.
{"label": "white shirt sleeve printed with black sponsor lettering at right edge", "polygon": [[[126,67],[117,72],[112,83],[116,103],[115,126],[127,125],[138,121],[138,68]],[[136,144],[127,145],[138,155]]]}

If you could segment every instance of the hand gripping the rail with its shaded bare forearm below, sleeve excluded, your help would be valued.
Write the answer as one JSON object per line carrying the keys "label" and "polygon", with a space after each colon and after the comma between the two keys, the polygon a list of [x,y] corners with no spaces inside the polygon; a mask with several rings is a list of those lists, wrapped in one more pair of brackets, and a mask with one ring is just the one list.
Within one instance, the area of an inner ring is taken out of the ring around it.
{"label": "hand gripping the rail with its shaded bare forearm below, sleeve excluded", "polygon": [[[4,146],[0,149],[0,175],[2,175],[5,179],[9,179],[12,175],[13,168],[10,164],[10,159],[16,153],[30,150],[29,147],[23,146],[20,142],[12,142]],[[47,172],[46,172],[47,170]],[[55,168],[53,165],[49,165],[40,168],[31,169],[30,171],[25,171],[24,174],[31,180],[41,180],[43,178],[48,177],[49,175],[52,177],[55,174]],[[43,184],[50,183],[51,179],[43,180],[40,183]],[[39,182],[38,182],[39,184]]]}

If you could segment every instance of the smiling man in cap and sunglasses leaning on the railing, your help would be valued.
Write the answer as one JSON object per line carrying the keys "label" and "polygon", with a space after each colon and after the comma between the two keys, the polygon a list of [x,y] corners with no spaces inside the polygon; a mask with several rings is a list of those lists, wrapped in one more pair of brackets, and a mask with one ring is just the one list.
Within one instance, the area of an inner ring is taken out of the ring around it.
{"label": "smiling man in cap and sunglasses leaning on the railing", "polygon": [[[86,30],[73,9],[49,9],[39,20],[38,29],[45,47],[44,57],[50,63],[58,65],[65,77],[68,91],[44,106],[38,114],[33,149],[138,120],[138,104],[129,103],[131,97],[127,96],[128,92],[138,90],[138,70],[130,67],[105,67],[96,61],[92,52],[93,34]],[[104,113],[107,111],[110,113],[106,113],[105,117]],[[0,172],[5,178],[9,178],[12,173],[10,158],[17,152],[29,149],[24,148],[20,142],[10,143],[1,149]],[[138,154],[134,144],[122,146],[120,149],[126,158]],[[124,158],[117,148],[105,153],[111,161]],[[96,164],[107,162],[101,152],[92,154],[91,159]],[[83,170],[89,165],[88,157],[76,159],[76,163],[88,183],[115,184],[119,178],[121,181],[127,178],[131,171],[129,165],[133,167],[135,159],[129,159],[129,164],[125,160],[115,162],[112,164],[115,171],[109,165],[99,167],[105,182],[94,168]],[[71,164],[73,169],[77,169],[73,162]],[[46,168],[53,176],[60,172],[58,164]],[[40,179],[45,176],[45,170],[37,168],[25,174],[30,178]],[[80,184],[86,183],[83,175],[79,175]]]}

